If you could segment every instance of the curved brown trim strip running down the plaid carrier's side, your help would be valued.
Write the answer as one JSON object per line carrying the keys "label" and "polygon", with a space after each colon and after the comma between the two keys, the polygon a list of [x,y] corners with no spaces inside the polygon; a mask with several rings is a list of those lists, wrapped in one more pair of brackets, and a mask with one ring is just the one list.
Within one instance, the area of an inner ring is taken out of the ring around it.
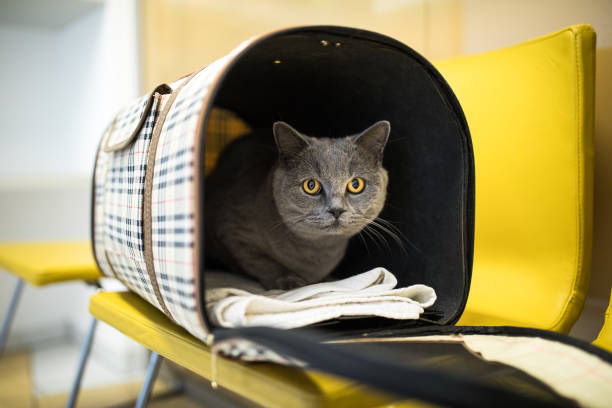
{"label": "curved brown trim strip running down the plaid carrier's side", "polygon": [[161,112],[157,122],[155,123],[155,127],[153,128],[153,134],[151,135],[151,142],[149,143],[149,152],[147,154],[147,165],[145,168],[145,186],[144,186],[144,196],[142,201],[142,222],[143,222],[143,235],[144,235],[144,258],[145,264],[147,266],[147,273],[149,274],[149,279],[151,280],[151,286],[153,286],[153,292],[155,293],[155,297],[162,308],[163,312],[168,316],[172,321],[174,317],[170,313],[170,310],[166,306],[162,294],[159,290],[159,284],[157,282],[157,277],[155,276],[155,263],[153,259],[153,219],[152,219],[152,209],[151,209],[151,201],[153,195],[153,172],[155,168],[155,156],[157,153],[157,144],[159,142],[159,137],[161,135],[161,130],[164,126],[164,122],[166,120],[166,116],[168,116],[168,112],[170,112],[170,108],[172,104],[176,100],[179,92],[183,89],[183,87],[189,82],[191,78],[193,78],[194,74],[190,75],[183,83],[179,85],[179,87],[172,92],[170,95],[170,99],[164,106],[163,111]]}

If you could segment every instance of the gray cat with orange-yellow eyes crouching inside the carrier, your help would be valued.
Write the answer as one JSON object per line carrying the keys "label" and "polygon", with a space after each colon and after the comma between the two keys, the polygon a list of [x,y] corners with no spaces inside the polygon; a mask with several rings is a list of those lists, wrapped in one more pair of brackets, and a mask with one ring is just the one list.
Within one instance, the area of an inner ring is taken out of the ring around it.
{"label": "gray cat with orange-yellow eyes crouching inside the carrier", "polygon": [[233,142],[205,186],[206,256],[266,289],[318,282],[381,212],[390,125],[314,138],[284,122]]}

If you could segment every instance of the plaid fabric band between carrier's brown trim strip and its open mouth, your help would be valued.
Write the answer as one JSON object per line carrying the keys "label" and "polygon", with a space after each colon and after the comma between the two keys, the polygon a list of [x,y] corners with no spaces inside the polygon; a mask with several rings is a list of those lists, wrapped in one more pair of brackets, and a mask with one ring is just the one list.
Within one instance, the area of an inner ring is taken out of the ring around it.
{"label": "plaid fabric band between carrier's brown trim strip and its open mouth", "polygon": [[217,61],[200,71],[178,94],[161,131],[153,170],[153,259],[159,290],[174,320],[202,340],[206,332],[197,311],[193,270],[194,143],[203,100],[222,66]]}

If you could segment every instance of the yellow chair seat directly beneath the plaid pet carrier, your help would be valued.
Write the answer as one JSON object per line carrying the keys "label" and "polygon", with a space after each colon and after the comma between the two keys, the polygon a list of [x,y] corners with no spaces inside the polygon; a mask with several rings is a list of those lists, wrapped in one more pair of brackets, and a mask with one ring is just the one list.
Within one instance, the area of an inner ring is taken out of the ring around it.
{"label": "yellow chair seat directly beneath the plaid pet carrier", "polygon": [[[96,293],[89,311],[164,358],[213,380],[210,348],[138,295]],[[218,357],[216,369],[214,380],[221,387],[266,407],[380,406],[396,400],[338,377],[275,364],[246,364]],[[410,401],[395,406],[425,405]]]}

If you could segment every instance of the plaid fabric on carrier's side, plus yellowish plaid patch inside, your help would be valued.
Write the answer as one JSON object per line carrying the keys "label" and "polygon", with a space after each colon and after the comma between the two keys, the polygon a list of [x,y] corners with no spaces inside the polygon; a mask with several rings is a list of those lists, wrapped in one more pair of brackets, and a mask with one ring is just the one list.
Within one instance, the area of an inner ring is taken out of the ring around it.
{"label": "plaid fabric on carrier's side, plus yellowish plaid patch inside", "polygon": [[[171,317],[191,334],[206,341],[196,305],[194,271],[194,157],[198,119],[213,80],[228,61],[248,42],[195,74],[169,107],[165,117],[153,168],[151,222],[153,264],[161,297]],[[186,80],[172,84],[176,89]],[[107,130],[103,145],[114,145],[131,135],[146,106],[143,96],[122,109]],[[170,95],[157,95],[145,125],[129,146],[111,153],[99,149],[94,180],[94,243],[96,259],[102,272],[121,280],[129,289],[159,305],[147,273],[143,253],[142,205],[147,153],[152,130]],[[213,148],[213,163],[221,150],[234,138],[248,131],[248,126],[230,112],[212,110],[208,121]],[[224,121],[220,123],[217,119]],[[111,134],[112,133],[112,134]],[[121,135],[121,136],[120,136]],[[107,139],[112,138],[112,141]],[[207,135],[208,138],[208,135]],[[208,148],[208,141],[207,141]],[[215,151],[217,151],[215,153]],[[204,158],[202,158],[204,159]],[[211,161],[212,160],[212,161]],[[163,311],[163,310],[162,310]]]}

